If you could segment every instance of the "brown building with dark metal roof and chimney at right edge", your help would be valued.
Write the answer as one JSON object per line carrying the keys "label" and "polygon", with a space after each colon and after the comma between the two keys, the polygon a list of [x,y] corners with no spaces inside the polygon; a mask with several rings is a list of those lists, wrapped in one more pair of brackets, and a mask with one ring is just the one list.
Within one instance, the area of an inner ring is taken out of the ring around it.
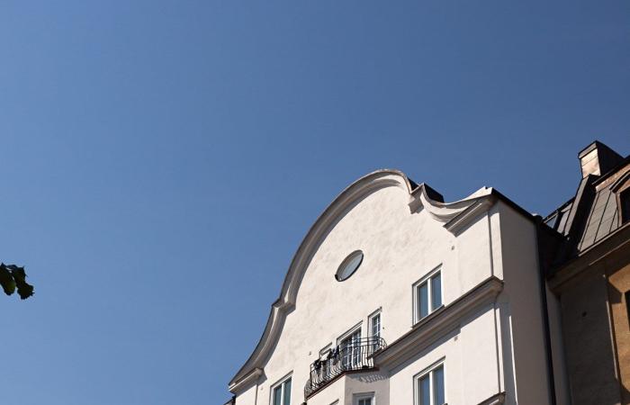
{"label": "brown building with dark metal roof and chimney at right edge", "polygon": [[630,404],[630,157],[596,141],[579,158],[577,192],[541,238],[569,391],[573,405]]}

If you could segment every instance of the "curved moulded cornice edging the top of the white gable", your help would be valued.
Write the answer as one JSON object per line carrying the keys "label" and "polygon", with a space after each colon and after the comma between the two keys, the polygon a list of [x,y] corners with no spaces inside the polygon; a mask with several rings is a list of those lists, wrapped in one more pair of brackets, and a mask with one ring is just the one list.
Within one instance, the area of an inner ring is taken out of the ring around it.
{"label": "curved moulded cornice edging the top of the white gable", "polygon": [[[252,355],[249,356],[245,365],[238,370],[238,373],[229,382],[230,392],[235,392],[247,386],[247,383],[254,382],[248,376],[252,373],[252,370],[264,366],[266,357],[275,346],[275,342],[279,338],[284,325],[286,314],[293,311],[302,276],[311,263],[311,258],[318,247],[320,247],[322,240],[328,235],[330,229],[337,224],[338,219],[352,209],[357,202],[383,188],[399,187],[409,194],[408,204],[412,213],[419,211],[420,208],[426,209],[434,219],[445,222],[446,229],[455,233],[459,229],[463,229],[465,224],[474,220],[483,210],[487,211],[494,201],[494,199],[490,198],[492,189],[484,187],[470,197],[458,202],[437,202],[428,196],[425,184],[420,184],[415,189],[412,189],[411,184],[409,178],[401,171],[391,169],[377,170],[350,184],[321,213],[295,252],[287,275],[284,277],[280,297],[272,305],[263,336],[258,341],[257,347]],[[459,218],[460,216],[462,218]]]}

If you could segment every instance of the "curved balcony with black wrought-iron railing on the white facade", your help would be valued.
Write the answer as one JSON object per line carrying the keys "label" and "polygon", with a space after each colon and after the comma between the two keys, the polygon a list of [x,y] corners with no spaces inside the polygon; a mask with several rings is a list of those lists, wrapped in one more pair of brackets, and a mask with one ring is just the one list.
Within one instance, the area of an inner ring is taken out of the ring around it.
{"label": "curved balcony with black wrought-iron railing on the white facade", "polygon": [[387,345],[383,338],[372,337],[356,339],[333,348],[329,356],[311,365],[309,381],[304,386],[304,398],[308,399],[319,392],[341,374],[373,369],[374,353],[385,347]]}

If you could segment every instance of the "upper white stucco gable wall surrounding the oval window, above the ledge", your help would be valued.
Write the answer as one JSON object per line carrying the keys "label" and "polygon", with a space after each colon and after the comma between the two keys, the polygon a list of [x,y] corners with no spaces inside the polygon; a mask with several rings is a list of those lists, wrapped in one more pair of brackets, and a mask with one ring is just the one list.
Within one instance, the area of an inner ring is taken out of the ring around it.
{"label": "upper white stucco gable wall surrounding the oval window, above the ledge", "polygon": [[[294,395],[299,395],[320,349],[336,345],[358,323],[367,336],[367,316],[379,308],[383,338],[401,337],[412,326],[412,284],[437,266],[442,266],[445,304],[490,275],[487,225],[475,222],[455,238],[427,211],[411,213],[408,202],[401,188],[379,190],[329,232],[303,276],[295,310],[266,364],[263,387],[293,370]],[[363,264],[347,281],[337,282],[339,263],[357,248],[365,253]]]}

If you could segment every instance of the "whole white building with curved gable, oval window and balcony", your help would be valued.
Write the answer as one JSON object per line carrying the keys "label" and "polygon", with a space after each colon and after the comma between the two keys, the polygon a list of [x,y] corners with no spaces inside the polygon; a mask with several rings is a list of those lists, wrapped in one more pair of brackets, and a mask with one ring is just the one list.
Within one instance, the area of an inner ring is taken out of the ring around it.
{"label": "whole white building with curved gable, oval window and balcony", "polygon": [[232,402],[563,403],[549,298],[527,211],[485,187],[446,203],[399,171],[377,171],[309,230],[229,382]]}

